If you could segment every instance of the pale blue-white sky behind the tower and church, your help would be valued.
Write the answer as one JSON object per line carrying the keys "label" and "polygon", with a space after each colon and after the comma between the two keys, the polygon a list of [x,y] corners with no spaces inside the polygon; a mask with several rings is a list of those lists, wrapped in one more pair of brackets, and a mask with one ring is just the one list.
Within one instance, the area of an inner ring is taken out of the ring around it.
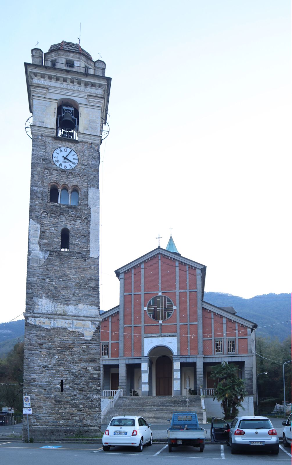
{"label": "pale blue-white sky behind the tower and church", "polygon": [[[206,291],[291,292],[288,0],[72,0],[2,7],[0,322],[25,311],[31,140],[23,63],[78,42],[112,78],[101,146],[100,308],[114,270],[166,247],[207,266]],[[4,45],[5,44],[5,45]]]}

